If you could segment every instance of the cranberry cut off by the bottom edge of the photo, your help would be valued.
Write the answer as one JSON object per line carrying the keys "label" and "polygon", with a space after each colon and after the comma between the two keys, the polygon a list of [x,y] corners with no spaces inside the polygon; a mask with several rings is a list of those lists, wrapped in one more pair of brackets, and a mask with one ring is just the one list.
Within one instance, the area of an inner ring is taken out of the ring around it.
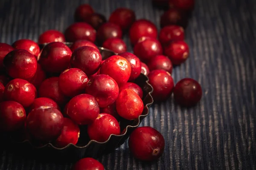
{"label": "cranberry cut off by the bottom edge of the photo", "polygon": [[104,166],[93,158],[83,158],[74,164],[72,170],[105,170]]}

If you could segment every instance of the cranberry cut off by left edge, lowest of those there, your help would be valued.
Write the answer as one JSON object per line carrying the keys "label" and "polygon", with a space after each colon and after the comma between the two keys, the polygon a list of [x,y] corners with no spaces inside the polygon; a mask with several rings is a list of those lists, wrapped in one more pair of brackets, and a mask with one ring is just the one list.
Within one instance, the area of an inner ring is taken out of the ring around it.
{"label": "cranberry cut off by left edge, lowest of those there", "polygon": [[0,103],[0,131],[15,131],[23,127],[26,112],[20,103],[5,101]]}

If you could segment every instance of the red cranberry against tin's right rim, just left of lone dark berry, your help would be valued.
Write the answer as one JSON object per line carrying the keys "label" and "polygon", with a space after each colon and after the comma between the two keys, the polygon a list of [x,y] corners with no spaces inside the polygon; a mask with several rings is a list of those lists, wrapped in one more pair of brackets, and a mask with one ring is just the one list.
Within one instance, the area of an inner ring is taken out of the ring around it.
{"label": "red cranberry against tin's right rim, just left of lone dark berry", "polygon": [[161,102],[168,99],[174,88],[174,82],[169,72],[164,70],[153,70],[148,74],[149,84],[154,91],[152,97],[154,101]]}

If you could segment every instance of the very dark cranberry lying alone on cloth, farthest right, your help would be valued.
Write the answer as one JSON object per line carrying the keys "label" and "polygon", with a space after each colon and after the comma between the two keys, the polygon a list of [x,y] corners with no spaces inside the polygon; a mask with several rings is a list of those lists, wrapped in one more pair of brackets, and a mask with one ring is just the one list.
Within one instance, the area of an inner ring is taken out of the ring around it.
{"label": "very dark cranberry lying alone on cloth, farthest right", "polygon": [[194,79],[181,79],[173,90],[175,102],[184,107],[197,104],[202,97],[201,85]]}

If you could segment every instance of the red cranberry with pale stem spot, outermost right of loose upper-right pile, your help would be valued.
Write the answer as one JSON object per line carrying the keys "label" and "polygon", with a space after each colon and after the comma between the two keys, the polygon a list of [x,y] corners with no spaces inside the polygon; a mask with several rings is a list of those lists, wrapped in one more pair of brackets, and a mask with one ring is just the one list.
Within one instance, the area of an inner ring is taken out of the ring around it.
{"label": "red cranberry with pale stem spot, outermost right of loose upper-right pile", "polygon": [[172,64],[180,65],[189,57],[189,46],[185,41],[174,41],[165,47],[164,53]]}

